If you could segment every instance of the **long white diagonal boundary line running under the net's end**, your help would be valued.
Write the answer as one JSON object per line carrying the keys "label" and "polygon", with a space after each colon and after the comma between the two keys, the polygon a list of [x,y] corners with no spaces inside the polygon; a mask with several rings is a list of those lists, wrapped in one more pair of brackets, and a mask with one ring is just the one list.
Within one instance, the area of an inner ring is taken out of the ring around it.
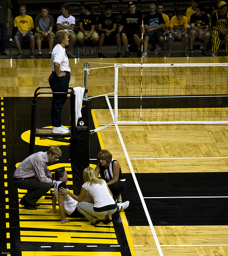
{"label": "long white diagonal boundary line running under the net's end", "polygon": [[[114,120],[115,120],[115,117],[114,117],[113,110],[112,110],[112,106],[111,106],[111,104],[110,104],[110,101],[109,101],[108,96],[106,96],[106,101],[107,101],[107,103],[108,103],[109,110],[110,110],[110,113],[111,113],[112,118],[113,118],[113,121],[114,121]],[[157,234],[156,234],[154,225],[153,225],[153,223],[152,223],[152,221],[151,221],[151,218],[150,218],[150,216],[149,216],[149,212],[148,212],[148,209],[147,209],[147,207],[146,207],[145,200],[144,200],[143,195],[142,195],[142,191],[141,191],[141,189],[140,189],[139,183],[138,183],[137,178],[136,178],[136,175],[135,175],[135,173],[134,173],[134,169],[133,169],[133,167],[132,167],[131,160],[130,160],[130,158],[129,158],[128,152],[126,151],[126,147],[125,147],[125,144],[124,144],[124,142],[123,142],[121,133],[120,133],[120,131],[119,131],[119,127],[118,127],[118,125],[117,125],[116,123],[115,123],[115,127],[116,127],[116,131],[117,131],[117,133],[118,133],[118,136],[119,136],[119,139],[120,139],[120,142],[121,142],[121,145],[122,145],[122,148],[123,148],[123,151],[124,151],[126,160],[128,161],[129,168],[130,168],[130,170],[131,170],[132,177],[133,177],[133,180],[134,180],[134,182],[135,182],[135,185],[136,185],[136,188],[137,188],[137,191],[138,191],[140,200],[141,200],[141,202],[142,202],[142,206],[143,206],[143,209],[144,209],[144,211],[145,211],[145,215],[146,215],[147,221],[148,221],[148,223],[149,223],[151,232],[153,233],[153,236],[154,236],[154,239],[155,239],[155,243],[156,243],[156,246],[157,246],[158,251],[159,251],[159,255],[160,255],[160,256],[164,256],[164,254],[163,254],[163,252],[162,252],[161,245],[160,245],[160,243],[159,243],[159,241],[158,241],[158,237],[157,237]]]}

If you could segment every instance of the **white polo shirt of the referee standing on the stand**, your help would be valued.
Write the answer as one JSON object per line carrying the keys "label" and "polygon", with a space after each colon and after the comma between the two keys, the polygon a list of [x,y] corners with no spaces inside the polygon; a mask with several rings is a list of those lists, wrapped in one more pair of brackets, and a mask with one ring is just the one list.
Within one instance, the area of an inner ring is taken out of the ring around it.
{"label": "white polo shirt of the referee standing on the stand", "polygon": [[54,62],[60,64],[60,71],[70,72],[69,60],[66,55],[66,50],[60,44],[57,44],[52,51],[52,59],[50,61],[52,65],[52,71],[55,71]]}

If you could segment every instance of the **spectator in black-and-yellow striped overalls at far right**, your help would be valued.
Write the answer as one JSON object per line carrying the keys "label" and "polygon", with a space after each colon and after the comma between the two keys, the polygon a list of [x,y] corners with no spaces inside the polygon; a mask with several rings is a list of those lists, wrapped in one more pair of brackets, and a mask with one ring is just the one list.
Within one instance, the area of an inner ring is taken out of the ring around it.
{"label": "spectator in black-and-yellow striped overalls at far right", "polygon": [[221,39],[225,41],[225,52],[228,56],[228,30],[227,30],[227,4],[224,1],[219,2],[218,11],[214,12],[211,17],[211,42],[212,55],[217,56]]}

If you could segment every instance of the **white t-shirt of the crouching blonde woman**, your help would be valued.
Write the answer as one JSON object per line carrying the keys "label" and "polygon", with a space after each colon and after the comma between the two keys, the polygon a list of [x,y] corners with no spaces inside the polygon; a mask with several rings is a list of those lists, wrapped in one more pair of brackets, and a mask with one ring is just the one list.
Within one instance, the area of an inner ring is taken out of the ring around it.
{"label": "white t-shirt of the crouching blonde woman", "polygon": [[103,182],[103,184],[94,184],[93,186],[90,186],[88,182],[84,183],[82,185],[90,194],[90,196],[94,200],[94,207],[103,207],[106,205],[115,204],[114,199],[109,193],[109,189],[107,187],[107,183]]}

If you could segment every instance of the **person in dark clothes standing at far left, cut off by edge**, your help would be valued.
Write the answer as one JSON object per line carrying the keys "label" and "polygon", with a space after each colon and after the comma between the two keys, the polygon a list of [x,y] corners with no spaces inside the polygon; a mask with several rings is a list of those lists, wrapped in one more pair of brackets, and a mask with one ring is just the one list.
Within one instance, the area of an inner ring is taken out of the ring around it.
{"label": "person in dark clothes standing at far left, cut off by edge", "polygon": [[5,52],[5,43],[6,43],[7,30],[10,27],[10,9],[12,7],[13,6],[12,6],[10,0],[1,1],[1,8],[0,8],[0,32],[1,32],[0,54],[3,55],[3,56],[7,55],[7,53]]}

